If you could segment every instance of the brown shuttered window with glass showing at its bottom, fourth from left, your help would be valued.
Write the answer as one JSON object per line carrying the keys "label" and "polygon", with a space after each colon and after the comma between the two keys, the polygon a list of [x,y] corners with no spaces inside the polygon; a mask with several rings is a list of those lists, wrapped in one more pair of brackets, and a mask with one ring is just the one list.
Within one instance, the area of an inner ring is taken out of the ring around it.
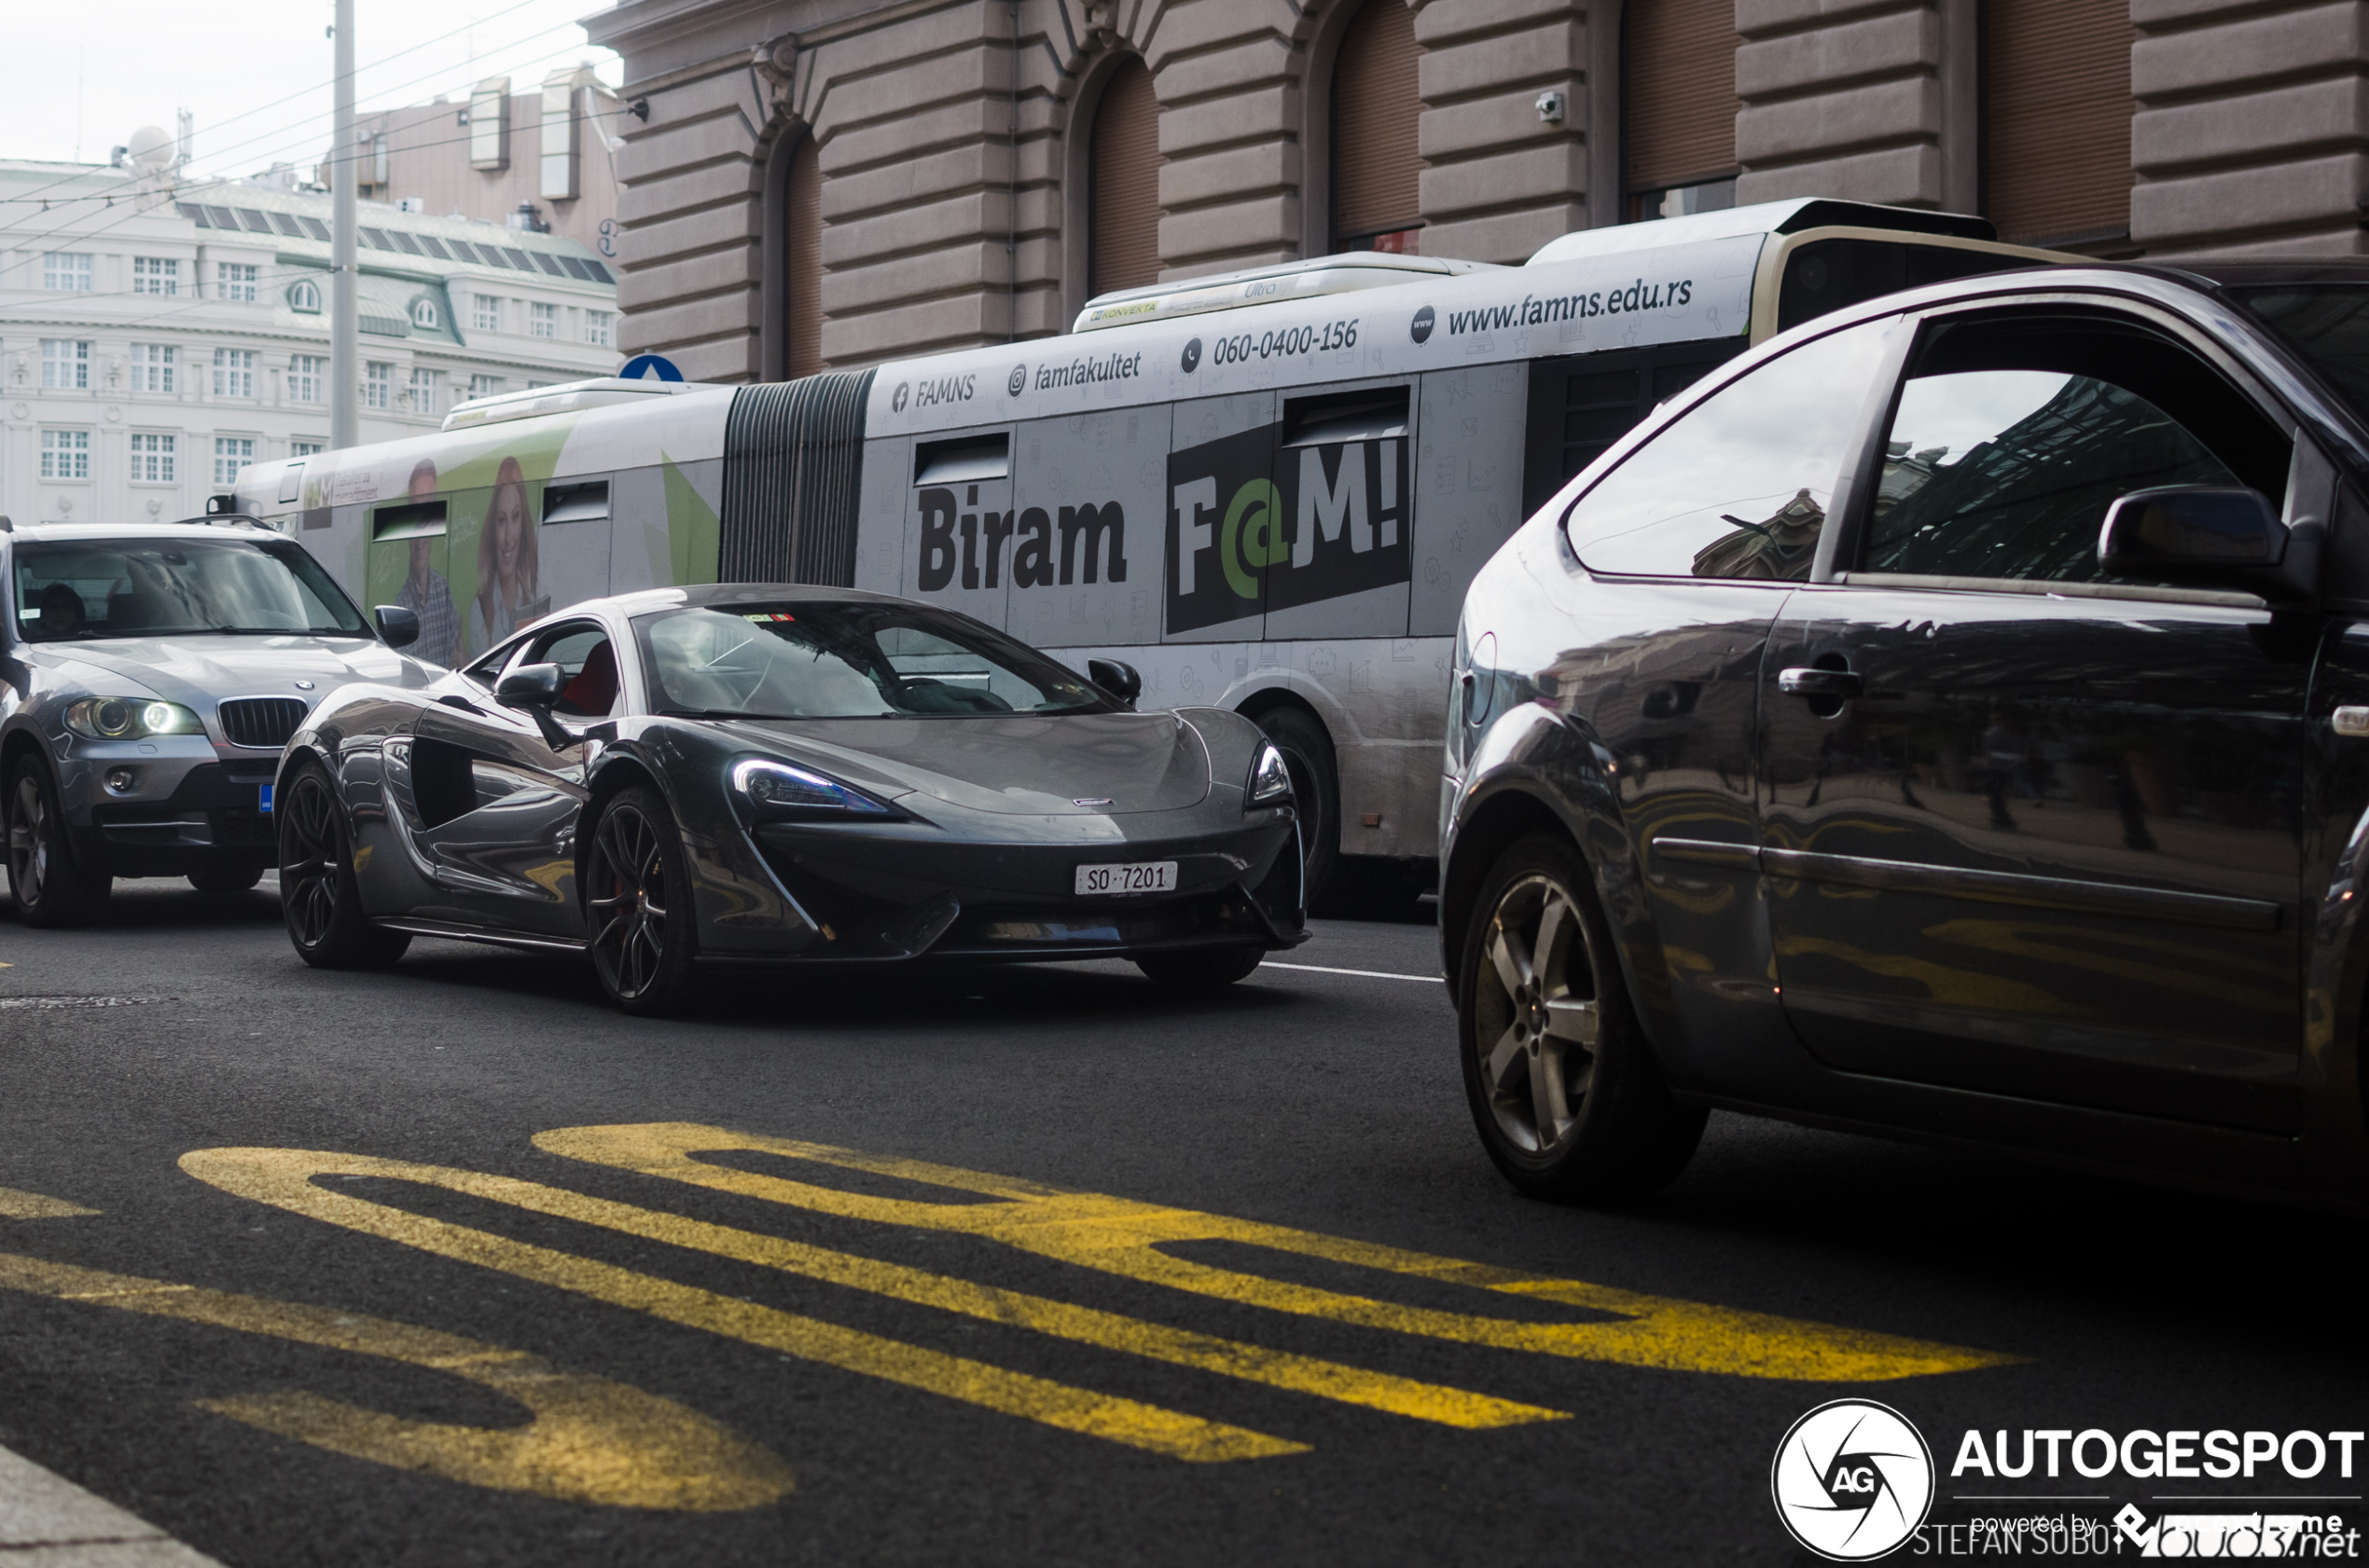
{"label": "brown shuttered window with glass showing at its bottom, fourth from left", "polygon": [[1630,0],[1620,38],[1623,220],[1736,204],[1736,0]]}

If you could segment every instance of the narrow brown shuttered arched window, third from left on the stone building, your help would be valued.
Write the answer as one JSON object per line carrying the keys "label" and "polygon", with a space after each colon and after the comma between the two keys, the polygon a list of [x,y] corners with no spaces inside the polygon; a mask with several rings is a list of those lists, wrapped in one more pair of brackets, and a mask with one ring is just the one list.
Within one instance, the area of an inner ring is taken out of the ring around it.
{"label": "narrow brown shuttered arched window, third from left on the stone building", "polygon": [[1331,81],[1334,251],[1417,249],[1417,52],[1407,0],[1367,0],[1341,36]]}

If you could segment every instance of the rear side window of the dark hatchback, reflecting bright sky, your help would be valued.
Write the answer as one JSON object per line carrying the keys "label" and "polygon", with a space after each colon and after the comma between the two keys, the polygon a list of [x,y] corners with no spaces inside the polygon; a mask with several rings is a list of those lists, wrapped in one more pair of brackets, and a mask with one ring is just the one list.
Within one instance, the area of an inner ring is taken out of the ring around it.
{"label": "rear side window of the dark hatchback, reflecting bright sky", "polygon": [[1564,528],[1590,571],[1803,580],[1893,320],[1760,365],[1604,476]]}

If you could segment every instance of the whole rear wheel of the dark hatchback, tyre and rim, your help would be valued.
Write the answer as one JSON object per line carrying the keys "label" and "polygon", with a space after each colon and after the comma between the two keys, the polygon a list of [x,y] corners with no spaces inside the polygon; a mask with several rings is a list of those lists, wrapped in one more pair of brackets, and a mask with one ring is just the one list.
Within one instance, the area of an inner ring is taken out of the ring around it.
{"label": "whole rear wheel of the dark hatchback, tyre and rim", "polygon": [[1580,1203],[1677,1180],[1706,1113],[1663,1085],[1587,867],[1566,841],[1523,838],[1497,857],[1457,978],[1464,1092],[1514,1187]]}

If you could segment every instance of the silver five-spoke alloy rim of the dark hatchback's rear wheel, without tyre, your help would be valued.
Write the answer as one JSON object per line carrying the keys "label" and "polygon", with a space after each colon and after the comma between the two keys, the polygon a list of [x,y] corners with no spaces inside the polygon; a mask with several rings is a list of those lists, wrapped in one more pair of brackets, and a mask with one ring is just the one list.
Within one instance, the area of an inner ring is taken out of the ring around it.
{"label": "silver five-spoke alloy rim of the dark hatchback's rear wheel, without tyre", "polygon": [[1507,1144],[1554,1153],[1597,1066],[1597,952],[1552,876],[1511,883],[1490,912],[1474,995],[1481,1082]]}

